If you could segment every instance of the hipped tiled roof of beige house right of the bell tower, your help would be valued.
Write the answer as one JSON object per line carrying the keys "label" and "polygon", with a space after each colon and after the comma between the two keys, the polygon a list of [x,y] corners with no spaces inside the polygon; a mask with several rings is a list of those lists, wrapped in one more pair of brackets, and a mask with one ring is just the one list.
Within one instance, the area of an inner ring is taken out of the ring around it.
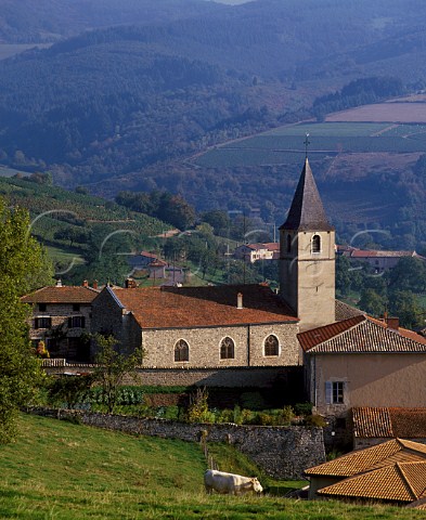
{"label": "hipped tiled roof of beige house right of the bell tower", "polygon": [[426,338],[399,328],[388,328],[370,316],[354,316],[297,335],[304,351],[309,353],[390,353],[425,352]]}

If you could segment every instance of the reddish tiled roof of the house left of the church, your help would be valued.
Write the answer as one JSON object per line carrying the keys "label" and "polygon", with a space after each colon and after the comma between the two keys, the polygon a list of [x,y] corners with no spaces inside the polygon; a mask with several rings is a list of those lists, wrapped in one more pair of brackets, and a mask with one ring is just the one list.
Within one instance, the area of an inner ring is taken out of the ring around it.
{"label": "reddish tiled roof of the house left of the church", "polygon": [[25,303],[91,303],[98,289],[83,286],[48,286],[22,298]]}

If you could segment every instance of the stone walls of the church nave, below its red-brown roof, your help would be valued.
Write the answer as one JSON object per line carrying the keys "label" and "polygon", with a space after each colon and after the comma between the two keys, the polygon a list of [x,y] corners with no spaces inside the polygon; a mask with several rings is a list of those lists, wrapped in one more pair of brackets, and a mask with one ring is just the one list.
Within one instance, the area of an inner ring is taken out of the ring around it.
{"label": "stone walls of the church nave, below its red-brown roof", "polygon": [[[92,332],[112,334],[122,348],[142,347],[142,365],[155,368],[235,367],[235,366],[297,366],[300,348],[297,323],[244,324],[206,327],[142,328],[133,314],[124,309],[113,291],[102,291],[93,301]],[[266,355],[264,340],[277,339],[276,355]],[[234,355],[221,359],[224,338],[234,342]],[[175,361],[175,347],[184,340],[189,347],[188,361]]]}

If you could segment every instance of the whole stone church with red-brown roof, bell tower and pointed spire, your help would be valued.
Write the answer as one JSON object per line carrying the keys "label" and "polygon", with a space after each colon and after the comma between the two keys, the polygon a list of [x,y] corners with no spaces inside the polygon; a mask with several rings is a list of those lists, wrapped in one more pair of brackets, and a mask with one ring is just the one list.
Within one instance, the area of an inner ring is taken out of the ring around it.
{"label": "whole stone church with red-brown roof, bell tower and pointed spire", "polygon": [[142,347],[143,366],[157,369],[300,365],[298,333],[340,318],[335,231],[308,158],[280,227],[279,264],[279,294],[261,284],[105,287],[92,301],[91,332]]}

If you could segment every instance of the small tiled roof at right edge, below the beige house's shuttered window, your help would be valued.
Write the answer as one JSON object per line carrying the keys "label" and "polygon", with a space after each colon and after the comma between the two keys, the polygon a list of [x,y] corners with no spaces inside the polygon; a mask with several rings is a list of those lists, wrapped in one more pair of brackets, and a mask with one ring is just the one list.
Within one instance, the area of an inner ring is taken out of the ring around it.
{"label": "small tiled roof at right edge, below the beige house's shuttered window", "polygon": [[426,438],[426,408],[356,407],[352,418],[357,438]]}

